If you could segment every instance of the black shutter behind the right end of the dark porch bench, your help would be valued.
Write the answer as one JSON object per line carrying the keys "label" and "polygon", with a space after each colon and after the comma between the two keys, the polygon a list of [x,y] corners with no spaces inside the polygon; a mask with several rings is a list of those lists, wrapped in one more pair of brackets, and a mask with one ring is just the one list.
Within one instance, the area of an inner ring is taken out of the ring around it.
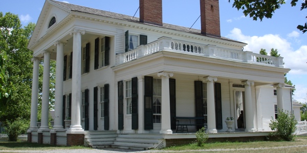
{"label": "black shutter behind the right end of the dark porch bench", "polygon": [[[195,115],[196,117],[204,117],[203,114],[203,82],[194,81],[194,92],[195,92]],[[205,120],[205,119],[204,119]],[[204,120],[196,120],[196,124],[204,124]],[[203,126],[196,126],[197,130],[200,130]]]}

